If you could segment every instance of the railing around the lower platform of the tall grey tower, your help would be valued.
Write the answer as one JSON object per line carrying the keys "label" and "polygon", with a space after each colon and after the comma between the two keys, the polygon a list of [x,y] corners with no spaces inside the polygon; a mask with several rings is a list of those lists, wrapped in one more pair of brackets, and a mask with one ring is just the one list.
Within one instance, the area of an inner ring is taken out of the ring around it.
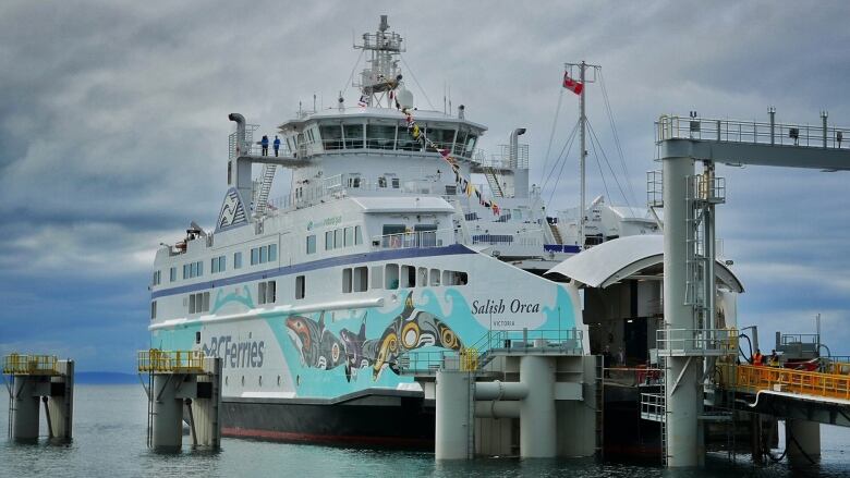
{"label": "railing around the lower platform of the tall grey tower", "polygon": [[738,354],[736,329],[661,329],[655,336],[663,355]]}

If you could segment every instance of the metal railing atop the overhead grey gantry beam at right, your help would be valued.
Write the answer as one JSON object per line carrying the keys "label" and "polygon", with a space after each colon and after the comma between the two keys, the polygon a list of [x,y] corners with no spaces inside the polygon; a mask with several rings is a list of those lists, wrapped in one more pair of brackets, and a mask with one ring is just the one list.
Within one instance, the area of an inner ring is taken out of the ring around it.
{"label": "metal railing atop the overhead grey gantry beam at right", "polygon": [[[850,148],[850,127],[757,121],[709,120],[664,115],[655,123],[655,140],[708,139],[780,146]],[[846,140],[848,139],[848,140]]]}

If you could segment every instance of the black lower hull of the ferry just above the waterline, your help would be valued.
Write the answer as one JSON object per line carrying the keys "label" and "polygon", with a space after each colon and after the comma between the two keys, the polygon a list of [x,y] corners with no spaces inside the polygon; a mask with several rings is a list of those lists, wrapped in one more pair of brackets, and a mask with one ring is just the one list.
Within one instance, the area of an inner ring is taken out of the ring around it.
{"label": "black lower hull of the ferry just above the waterline", "polygon": [[433,450],[433,402],[421,393],[386,392],[335,401],[224,399],[221,432],[280,442]]}

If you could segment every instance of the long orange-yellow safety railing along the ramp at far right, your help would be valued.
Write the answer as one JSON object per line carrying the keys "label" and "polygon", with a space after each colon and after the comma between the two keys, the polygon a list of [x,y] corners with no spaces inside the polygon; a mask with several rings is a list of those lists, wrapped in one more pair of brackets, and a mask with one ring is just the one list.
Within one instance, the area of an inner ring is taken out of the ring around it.
{"label": "long orange-yellow safety railing along the ramp at far right", "polygon": [[850,376],[846,375],[751,365],[728,365],[722,370],[724,383],[742,391],[773,390],[850,400]]}

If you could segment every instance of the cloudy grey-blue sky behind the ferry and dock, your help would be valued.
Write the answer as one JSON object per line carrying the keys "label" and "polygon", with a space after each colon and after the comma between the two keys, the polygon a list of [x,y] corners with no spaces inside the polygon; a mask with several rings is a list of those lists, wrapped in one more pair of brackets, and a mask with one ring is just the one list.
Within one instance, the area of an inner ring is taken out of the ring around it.
{"label": "cloudy grey-blue sky behind the ferry and dock", "polygon": [[[274,132],[314,95],[327,107],[344,89],[353,103],[352,37],[380,14],[405,38],[410,76],[427,94],[412,86],[417,105],[428,108],[427,96],[441,110],[450,88],[456,107],[489,126],[485,149],[527,127],[538,183],[564,62],[603,65],[632,203],[658,168],[661,113],[765,121],[775,106],[778,121],[817,124],[828,110],[850,126],[846,2],[4,1],[0,352],[132,371],[148,345],[157,244],[190,220],[215,222],[227,114]],[[588,118],[615,161],[600,86],[588,86]],[[552,151],[578,105],[563,96]],[[550,209],[578,203],[575,149]],[[590,195],[604,193],[593,157],[588,169]],[[719,174],[719,236],[748,290],[740,322],[769,344],[776,330],[813,332],[821,314],[834,353],[850,354],[850,173]]]}

